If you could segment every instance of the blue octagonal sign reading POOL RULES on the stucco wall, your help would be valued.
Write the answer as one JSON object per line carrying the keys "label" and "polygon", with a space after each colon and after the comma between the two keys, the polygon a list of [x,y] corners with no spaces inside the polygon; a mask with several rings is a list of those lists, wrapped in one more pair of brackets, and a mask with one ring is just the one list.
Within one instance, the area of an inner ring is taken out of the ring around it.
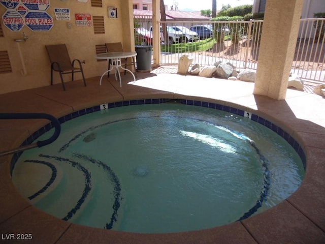
{"label": "blue octagonal sign reading POOL RULES on the stucco wall", "polygon": [[28,12],[25,24],[32,31],[47,32],[53,27],[53,19],[46,12]]}

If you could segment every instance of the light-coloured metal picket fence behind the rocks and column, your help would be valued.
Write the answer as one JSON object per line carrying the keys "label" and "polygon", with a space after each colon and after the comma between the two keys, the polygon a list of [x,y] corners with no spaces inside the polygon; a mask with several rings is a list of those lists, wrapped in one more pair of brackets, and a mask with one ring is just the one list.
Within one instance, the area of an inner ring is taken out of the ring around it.
{"label": "light-coloured metal picket fence behind the rocks and column", "polygon": [[[164,22],[161,22],[164,23]],[[194,58],[193,64],[213,65],[219,60],[233,64],[237,69],[256,69],[263,20],[192,22],[166,21],[168,33],[177,35],[177,26],[190,28],[194,25],[212,29],[211,38],[180,43],[162,42],[159,65],[177,66],[183,54]],[[135,27],[150,31],[151,16],[135,16]],[[301,19],[299,38],[292,72],[306,80],[325,82],[325,18]],[[191,33],[185,32],[187,37]],[[141,39],[141,35],[136,38]],[[161,34],[163,41],[164,35]],[[140,40],[141,41],[141,40]],[[138,40],[139,42],[139,40]],[[143,43],[143,40],[142,40]],[[148,44],[148,43],[146,43]]]}

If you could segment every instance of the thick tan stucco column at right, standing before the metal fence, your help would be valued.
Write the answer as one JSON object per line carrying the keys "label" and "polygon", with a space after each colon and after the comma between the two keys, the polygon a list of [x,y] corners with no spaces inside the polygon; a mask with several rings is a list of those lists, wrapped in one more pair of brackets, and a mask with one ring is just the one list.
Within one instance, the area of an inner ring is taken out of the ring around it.
{"label": "thick tan stucco column at right, standing before the metal fence", "polygon": [[253,94],[285,99],[304,0],[269,0]]}

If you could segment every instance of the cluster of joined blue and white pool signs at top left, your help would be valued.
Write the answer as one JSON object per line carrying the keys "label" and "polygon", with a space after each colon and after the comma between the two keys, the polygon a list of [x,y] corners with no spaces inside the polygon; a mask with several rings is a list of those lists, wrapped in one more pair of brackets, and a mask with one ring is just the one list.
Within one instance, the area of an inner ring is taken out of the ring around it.
{"label": "cluster of joined blue and white pool signs at top left", "polygon": [[24,26],[34,32],[48,32],[53,27],[53,18],[46,12],[50,0],[0,0],[0,4],[7,9],[3,23],[13,32]]}

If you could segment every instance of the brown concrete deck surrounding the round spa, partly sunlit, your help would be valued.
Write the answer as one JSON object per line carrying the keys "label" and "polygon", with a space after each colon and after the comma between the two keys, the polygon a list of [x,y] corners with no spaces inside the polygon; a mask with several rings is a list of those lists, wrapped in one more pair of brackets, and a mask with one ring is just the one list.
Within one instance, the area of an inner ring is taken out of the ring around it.
{"label": "brown concrete deck surrounding the round spa, partly sunlit", "polygon": [[[100,77],[0,95],[0,112],[40,112],[61,117],[104,103],[168,98],[214,102],[253,112],[277,124],[303,147],[306,176],[300,188],[277,206],[240,222],[200,231],[141,234],[72,224],[33,207],[11,181],[12,156],[0,157],[0,243],[24,243],[17,234],[31,234],[27,243],[325,243],[325,99],[288,89],[275,101],[252,95],[252,83],[138,73],[122,75],[122,87]],[[0,151],[18,147],[47,124],[44,119],[0,120]],[[14,234],[14,235],[10,235]],[[8,240],[14,237],[15,239]]]}

